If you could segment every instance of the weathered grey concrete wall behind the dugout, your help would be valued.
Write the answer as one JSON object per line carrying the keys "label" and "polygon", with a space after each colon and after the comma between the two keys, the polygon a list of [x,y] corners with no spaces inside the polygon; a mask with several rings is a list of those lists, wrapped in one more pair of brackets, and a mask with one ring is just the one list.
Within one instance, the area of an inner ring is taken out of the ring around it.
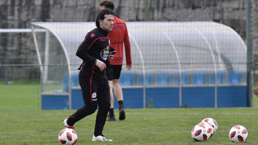
{"label": "weathered grey concrete wall behind the dugout", "polygon": [[[102,0],[1,0],[0,28],[30,28],[35,21],[95,21]],[[246,40],[246,0],[113,0],[124,21],[216,21]],[[258,62],[258,0],[253,0],[253,49]],[[0,34],[0,63],[33,63],[31,34]],[[8,57],[7,57],[8,56]],[[21,61],[22,60],[22,61]],[[258,66],[255,66],[258,69]]]}

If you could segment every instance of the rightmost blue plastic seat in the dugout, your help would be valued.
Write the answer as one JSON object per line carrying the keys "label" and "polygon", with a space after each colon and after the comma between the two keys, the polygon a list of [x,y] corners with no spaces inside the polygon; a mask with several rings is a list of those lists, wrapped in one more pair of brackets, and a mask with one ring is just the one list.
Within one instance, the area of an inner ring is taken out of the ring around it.
{"label": "rightmost blue plastic seat in the dugout", "polygon": [[229,70],[227,76],[227,82],[229,84],[241,84],[242,71],[241,70]]}

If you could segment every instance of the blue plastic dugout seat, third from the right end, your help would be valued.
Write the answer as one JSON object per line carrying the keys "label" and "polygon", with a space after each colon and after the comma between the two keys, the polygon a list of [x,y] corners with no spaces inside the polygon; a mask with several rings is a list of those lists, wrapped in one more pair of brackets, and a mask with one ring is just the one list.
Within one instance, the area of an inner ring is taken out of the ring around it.
{"label": "blue plastic dugout seat, third from the right end", "polygon": [[206,84],[207,72],[205,70],[193,72],[192,84],[193,85],[205,85]]}

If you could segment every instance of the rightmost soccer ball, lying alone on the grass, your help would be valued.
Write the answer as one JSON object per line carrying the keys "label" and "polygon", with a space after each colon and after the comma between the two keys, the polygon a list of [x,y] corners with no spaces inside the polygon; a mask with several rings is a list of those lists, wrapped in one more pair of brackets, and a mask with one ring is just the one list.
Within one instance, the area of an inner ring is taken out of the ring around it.
{"label": "rightmost soccer ball, lying alone on the grass", "polygon": [[229,131],[229,138],[232,142],[245,142],[247,137],[248,133],[244,126],[236,125]]}

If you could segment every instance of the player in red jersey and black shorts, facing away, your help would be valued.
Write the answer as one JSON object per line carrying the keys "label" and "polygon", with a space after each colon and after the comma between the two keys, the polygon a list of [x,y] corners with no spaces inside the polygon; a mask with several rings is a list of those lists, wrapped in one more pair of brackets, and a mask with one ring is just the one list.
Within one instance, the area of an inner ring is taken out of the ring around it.
{"label": "player in red jersey and black shorts, facing away", "polygon": [[[104,0],[99,5],[100,10],[108,8],[114,11],[114,3],[110,0]],[[106,75],[110,86],[111,98],[111,106],[109,110],[109,115],[107,116],[107,121],[116,120],[116,117],[114,115],[114,95],[112,89],[114,89],[114,94],[119,104],[119,120],[124,120],[124,99],[122,89],[119,85],[119,77],[123,64],[124,48],[126,55],[126,68],[128,70],[131,70],[132,68],[131,48],[126,23],[123,20],[118,19],[116,16],[114,16],[113,29],[108,34],[110,36],[110,47],[116,50],[116,54],[114,55],[114,59],[110,61],[110,65],[108,65],[106,68]]]}

